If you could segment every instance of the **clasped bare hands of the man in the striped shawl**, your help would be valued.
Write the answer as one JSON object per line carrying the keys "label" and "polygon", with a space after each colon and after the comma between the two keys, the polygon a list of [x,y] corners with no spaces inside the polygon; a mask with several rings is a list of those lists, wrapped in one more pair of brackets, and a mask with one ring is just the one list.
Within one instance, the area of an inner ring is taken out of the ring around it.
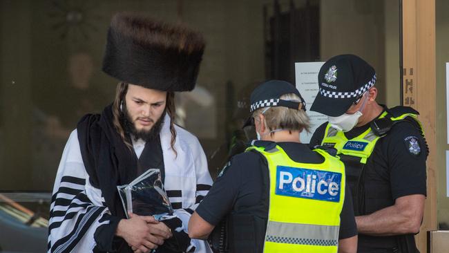
{"label": "clasped bare hands of the man in the striped shawl", "polygon": [[[158,233],[160,235],[153,235],[151,231],[155,229],[153,225],[158,225],[153,216],[138,216],[137,214],[129,214],[129,219],[123,219],[117,226],[115,234],[124,238],[126,243],[133,247],[133,250],[140,250],[140,252],[149,252],[151,249],[164,243],[164,238],[169,238],[171,234]],[[161,226],[162,227],[162,226]],[[161,236],[162,235],[162,236]]]}

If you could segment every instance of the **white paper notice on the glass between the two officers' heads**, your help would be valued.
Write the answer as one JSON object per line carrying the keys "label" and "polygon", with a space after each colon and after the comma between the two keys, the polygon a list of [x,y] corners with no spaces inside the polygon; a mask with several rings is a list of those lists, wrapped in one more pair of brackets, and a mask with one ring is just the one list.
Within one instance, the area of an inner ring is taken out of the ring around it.
{"label": "white paper notice on the glass between the two officers' heads", "polygon": [[309,115],[312,133],[303,131],[300,133],[300,140],[303,143],[309,143],[310,138],[315,129],[324,122],[327,122],[327,116],[316,111],[310,111],[310,106],[318,94],[318,71],[324,62],[296,62],[295,63],[295,77],[296,88],[307,104],[307,115]]}

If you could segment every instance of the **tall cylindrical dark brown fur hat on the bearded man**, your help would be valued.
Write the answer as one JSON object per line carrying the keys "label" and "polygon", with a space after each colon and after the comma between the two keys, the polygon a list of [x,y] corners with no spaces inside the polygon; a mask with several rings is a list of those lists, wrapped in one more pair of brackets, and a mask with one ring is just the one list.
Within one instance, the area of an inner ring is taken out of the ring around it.
{"label": "tall cylindrical dark brown fur hat on the bearded man", "polygon": [[191,91],[205,42],[199,32],[130,12],[114,15],[103,71],[122,82],[160,91]]}

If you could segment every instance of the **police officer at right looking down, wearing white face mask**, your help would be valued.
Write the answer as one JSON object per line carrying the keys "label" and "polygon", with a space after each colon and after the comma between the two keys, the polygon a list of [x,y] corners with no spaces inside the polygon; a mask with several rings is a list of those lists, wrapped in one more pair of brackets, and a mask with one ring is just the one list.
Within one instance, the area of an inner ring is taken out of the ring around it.
{"label": "police officer at right looking down, wearing white face mask", "polygon": [[311,147],[334,147],[345,163],[359,232],[358,252],[417,252],[428,149],[419,114],[376,102],[374,68],[355,55],[332,57],[318,73],[312,111],[328,116]]}

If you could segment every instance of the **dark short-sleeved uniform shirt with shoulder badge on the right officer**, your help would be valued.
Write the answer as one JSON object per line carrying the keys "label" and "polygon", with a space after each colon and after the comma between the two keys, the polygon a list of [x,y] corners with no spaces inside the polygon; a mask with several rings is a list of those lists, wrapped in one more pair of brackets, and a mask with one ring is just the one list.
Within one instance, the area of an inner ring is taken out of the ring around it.
{"label": "dark short-sleeved uniform shirt with shoulder badge on the right officer", "polygon": [[[309,147],[321,145],[327,122],[316,129]],[[356,127],[345,133],[348,140],[355,138],[370,127],[370,123]],[[426,195],[426,142],[417,126],[411,122],[394,124],[390,132],[376,142],[374,151],[368,158],[365,171],[370,178],[390,185],[392,203],[397,198],[412,194]],[[366,193],[376,194],[372,192]],[[375,212],[370,210],[368,214]],[[379,249],[379,236],[359,234],[359,251],[374,252]],[[395,244],[394,236],[384,236],[383,245]]]}

